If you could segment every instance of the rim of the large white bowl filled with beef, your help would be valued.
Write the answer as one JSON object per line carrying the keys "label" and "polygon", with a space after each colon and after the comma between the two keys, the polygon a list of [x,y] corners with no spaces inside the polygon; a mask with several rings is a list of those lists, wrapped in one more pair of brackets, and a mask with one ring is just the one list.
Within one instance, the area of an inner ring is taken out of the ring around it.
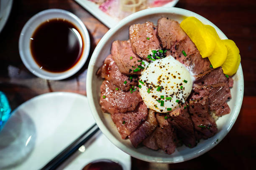
{"label": "rim of the large white bowl filled with beef", "polygon": [[[150,8],[150,9],[146,9],[146,10],[142,10],[139,11],[137,13],[134,13],[130,16],[128,16],[127,18],[124,18],[123,20],[121,20],[118,25],[116,25],[114,28],[111,28],[100,40],[100,42],[98,43],[98,45],[96,46],[92,57],[90,59],[90,63],[88,66],[88,72],[87,72],[87,83],[86,83],[86,88],[90,89],[87,90],[87,97],[89,102],[89,106],[92,112],[92,115],[95,119],[95,122],[97,123],[98,127],[100,128],[100,130],[102,131],[102,133],[115,145],[117,146],[120,150],[123,150],[125,153],[133,156],[134,158],[138,158],[140,160],[144,160],[144,161],[148,161],[148,162],[152,162],[152,163],[179,163],[179,162],[184,162],[187,160],[191,160],[193,158],[196,158],[204,153],[206,153],[207,151],[209,151],[210,149],[214,148],[221,140],[223,140],[223,138],[228,134],[228,132],[230,131],[230,129],[233,127],[234,123],[236,122],[236,119],[238,117],[238,114],[240,112],[241,109],[241,105],[242,105],[242,101],[243,101],[243,91],[244,91],[244,82],[243,82],[243,70],[241,67],[241,64],[239,65],[238,68],[238,72],[240,73],[240,79],[238,80],[238,87],[241,87],[241,90],[238,91],[238,96],[236,97],[236,106],[233,108],[234,109],[234,115],[233,117],[231,117],[231,120],[229,122],[229,126],[228,128],[223,132],[220,133],[220,135],[217,137],[215,137],[215,141],[216,139],[218,139],[218,143],[214,144],[212,143],[212,145],[208,145],[207,147],[205,147],[203,150],[198,149],[198,152],[196,153],[189,153],[187,155],[189,156],[185,156],[182,159],[177,159],[177,160],[168,160],[170,158],[165,158],[162,160],[156,160],[156,157],[154,156],[148,156],[148,155],[144,155],[143,153],[139,153],[138,151],[134,151],[130,148],[128,148],[126,145],[124,145],[124,143],[121,143],[118,139],[115,138],[114,135],[112,135],[110,133],[110,131],[105,127],[105,125],[102,123],[102,120],[99,116],[99,113],[97,112],[94,100],[93,100],[93,94],[92,94],[92,77],[95,76],[93,75],[93,70],[95,67],[95,63],[98,57],[98,53],[100,52],[101,48],[105,45],[105,43],[108,41],[108,39],[120,28],[122,28],[125,24],[136,20],[138,18],[141,17],[145,17],[147,15],[154,15],[154,14],[161,14],[161,13],[174,13],[174,14],[178,14],[178,15],[184,15],[184,16],[194,16],[196,18],[198,18],[201,21],[204,21],[205,24],[208,25],[212,25],[215,30],[218,32],[219,35],[222,35],[224,37],[224,39],[228,39],[225,34],[213,23],[211,23],[209,20],[207,20],[206,18],[202,17],[201,15],[198,15],[192,11],[189,10],[184,10],[181,8],[177,8],[177,7],[156,7],[156,8]],[[217,136],[217,135],[215,135]],[[212,137],[213,138],[213,137]]]}

